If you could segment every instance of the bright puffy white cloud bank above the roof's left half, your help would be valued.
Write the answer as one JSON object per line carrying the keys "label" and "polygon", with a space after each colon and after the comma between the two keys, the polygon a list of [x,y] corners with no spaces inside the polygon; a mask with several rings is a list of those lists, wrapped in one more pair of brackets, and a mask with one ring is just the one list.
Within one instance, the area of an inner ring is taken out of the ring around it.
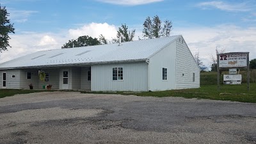
{"label": "bright puffy white cloud bank above the roof's left half", "polygon": [[79,36],[88,35],[99,38],[102,34],[107,40],[112,40],[116,36],[116,27],[107,23],[91,23],[77,29],[69,29],[60,33],[33,33],[24,32],[22,34],[12,34],[8,51],[0,53],[0,63],[13,60],[26,54],[49,49],[61,49],[61,46],[68,40],[76,39]]}

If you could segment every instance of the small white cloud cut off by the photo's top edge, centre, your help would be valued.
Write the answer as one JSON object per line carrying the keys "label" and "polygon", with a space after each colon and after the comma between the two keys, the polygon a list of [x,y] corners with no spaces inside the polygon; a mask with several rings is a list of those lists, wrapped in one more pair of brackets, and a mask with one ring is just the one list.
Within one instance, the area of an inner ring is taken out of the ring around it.
{"label": "small white cloud cut off by the photo's top edge, centre", "polygon": [[149,3],[156,3],[164,0],[97,0],[101,1],[103,3],[111,3],[111,4],[119,4],[119,5],[128,5],[128,6],[134,6],[134,5],[141,5],[141,4],[149,4]]}

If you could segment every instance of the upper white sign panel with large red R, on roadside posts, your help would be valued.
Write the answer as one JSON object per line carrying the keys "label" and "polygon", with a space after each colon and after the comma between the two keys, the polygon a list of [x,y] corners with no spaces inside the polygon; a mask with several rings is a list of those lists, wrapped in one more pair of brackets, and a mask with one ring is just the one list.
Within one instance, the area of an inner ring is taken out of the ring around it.
{"label": "upper white sign panel with large red R, on roadside posts", "polygon": [[219,67],[246,67],[246,54],[220,54]]}

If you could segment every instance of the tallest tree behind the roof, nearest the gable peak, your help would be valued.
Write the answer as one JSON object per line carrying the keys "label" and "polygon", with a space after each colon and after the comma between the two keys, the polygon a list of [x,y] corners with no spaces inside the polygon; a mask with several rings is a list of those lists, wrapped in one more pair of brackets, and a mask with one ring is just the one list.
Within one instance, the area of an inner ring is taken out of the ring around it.
{"label": "tallest tree behind the roof, nearest the gable peak", "polygon": [[154,16],[153,19],[147,17],[145,22],[143,23],[143,31],[144,38],[159,38],[159,37],[166,37],[170,36],[172,31],[172,21],[164,20],[162,21],[159,19],[158,15]]}

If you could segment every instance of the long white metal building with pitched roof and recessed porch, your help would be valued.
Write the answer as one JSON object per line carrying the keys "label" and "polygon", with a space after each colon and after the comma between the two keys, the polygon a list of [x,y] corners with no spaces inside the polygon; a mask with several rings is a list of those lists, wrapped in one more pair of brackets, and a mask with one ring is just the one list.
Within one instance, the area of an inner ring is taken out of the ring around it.
{"label": "long white metal building with pitched roof and recessed porch", "polygon": [[[45,82],[38,70],[44,70]],[[181,35],[39,51],[0,64],[0,88],[158,91],[200,86],[200,67]]]}

